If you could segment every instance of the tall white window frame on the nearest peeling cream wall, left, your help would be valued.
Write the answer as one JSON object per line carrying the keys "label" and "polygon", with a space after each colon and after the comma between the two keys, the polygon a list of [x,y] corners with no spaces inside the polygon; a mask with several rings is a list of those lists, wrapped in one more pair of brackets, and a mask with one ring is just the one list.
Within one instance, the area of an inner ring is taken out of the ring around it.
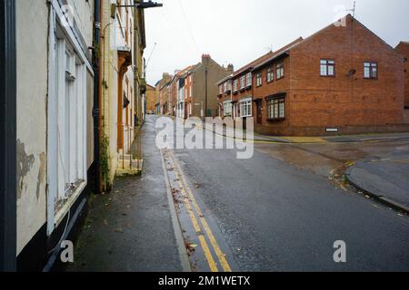
{"label": "tall white window frame on the nearest peeling cream wall, left", "polygon": [[[47,98],[47,235],[85,189],[87,171],[87,75],[91,63],[60,5],[51,1]],[[69,65],[67,65],[67,62]]]}

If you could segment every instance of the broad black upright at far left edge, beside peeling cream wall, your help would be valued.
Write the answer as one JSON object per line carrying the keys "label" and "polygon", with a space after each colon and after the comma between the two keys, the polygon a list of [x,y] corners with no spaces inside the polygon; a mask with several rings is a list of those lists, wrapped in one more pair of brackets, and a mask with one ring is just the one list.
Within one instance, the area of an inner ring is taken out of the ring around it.
{"label": "broad black upright at far left edge, beside peeling cream wall", "polygon": [[0,63],[0,272],[14,272],[17,184],[15,0],[0,0]]}

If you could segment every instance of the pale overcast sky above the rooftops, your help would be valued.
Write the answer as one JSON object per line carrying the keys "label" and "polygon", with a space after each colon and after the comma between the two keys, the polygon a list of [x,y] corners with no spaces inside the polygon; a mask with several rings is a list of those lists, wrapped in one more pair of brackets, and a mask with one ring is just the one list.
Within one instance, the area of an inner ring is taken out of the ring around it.
{"label": "pale overcast sky above the rooftops", "polygon": [[[234,70],[307,37],[348,14],[352,0],[155,0],[164,7],[145,10],[146,70],[155,85],[162,73],[200,62],[209,53]],[[409,1],[356,0],[355,17],[395,46],[409,41]]]}

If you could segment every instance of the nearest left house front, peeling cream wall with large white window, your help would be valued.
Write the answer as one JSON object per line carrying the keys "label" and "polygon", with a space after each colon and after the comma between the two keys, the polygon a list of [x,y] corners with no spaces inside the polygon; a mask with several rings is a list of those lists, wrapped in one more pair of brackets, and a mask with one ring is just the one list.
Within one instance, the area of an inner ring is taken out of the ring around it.
{"label": "nearest left house front, peeling cream wall with large white window", "polygon": [[14,5],[17,200],[16,245],[9,252],[18,270],[41,270],[84,207],[94,179],[95,68],[89,47],[95,1]]}

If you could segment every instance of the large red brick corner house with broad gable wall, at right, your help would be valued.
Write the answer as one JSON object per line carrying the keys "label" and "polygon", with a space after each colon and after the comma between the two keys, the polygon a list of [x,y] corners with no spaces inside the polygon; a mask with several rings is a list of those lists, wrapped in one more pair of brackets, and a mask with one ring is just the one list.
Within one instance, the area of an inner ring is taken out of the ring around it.
{"label": "large red brick corner house with broad gable wall, at right", "polygon": [[404,57],[351,15],[255,63],[250,65],[252,89],[244,91],[252,101],[251,113],[246,102],[237,116],[254,116],[257,132],[409,131],[404,124]]}

